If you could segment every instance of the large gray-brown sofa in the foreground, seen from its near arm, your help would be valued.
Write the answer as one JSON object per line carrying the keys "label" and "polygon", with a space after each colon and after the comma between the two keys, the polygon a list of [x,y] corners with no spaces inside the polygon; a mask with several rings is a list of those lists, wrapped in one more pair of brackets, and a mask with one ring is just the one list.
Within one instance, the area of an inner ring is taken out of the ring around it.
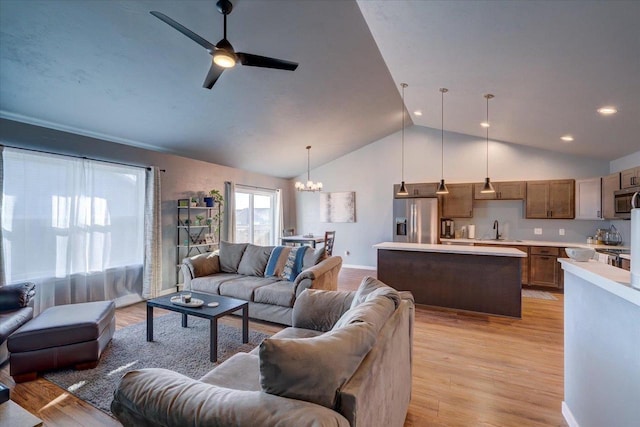
{"label": "large gray-brown sofa in the foreground, seen from its near arm", "polygon": [[125,426],[399,427],[411,398],[414,304],[367,277],[357,292],[306,290],[286,328],[199,380],[127,372],[113,414]]}

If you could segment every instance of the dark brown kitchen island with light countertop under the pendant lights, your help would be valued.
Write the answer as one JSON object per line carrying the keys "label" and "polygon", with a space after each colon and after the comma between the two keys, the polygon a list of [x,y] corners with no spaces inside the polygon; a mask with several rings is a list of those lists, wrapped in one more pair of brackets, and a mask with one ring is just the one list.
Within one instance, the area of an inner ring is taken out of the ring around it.
{"label": "dark brown kitchen island with light countertop under the pendant lights", "polygon": [[499,316],[522,315],[521,258],[513,248],[384,242],[378,279],[411,291],[417,304]]}

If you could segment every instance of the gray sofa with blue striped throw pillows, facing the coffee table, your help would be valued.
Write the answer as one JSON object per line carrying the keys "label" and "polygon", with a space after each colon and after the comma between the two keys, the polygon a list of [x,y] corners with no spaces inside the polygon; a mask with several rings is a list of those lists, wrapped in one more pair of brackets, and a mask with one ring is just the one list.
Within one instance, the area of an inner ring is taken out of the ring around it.
{"label": "gray sofa with blue striped throw pillows, facing the coffee table", "polygon": [[324,248],[221,242],[219,253],[185,258],[180,268],[184,290],[249,301],[249,317],[291,326],[296,298],[305,289],[336,290],[341,266]]}

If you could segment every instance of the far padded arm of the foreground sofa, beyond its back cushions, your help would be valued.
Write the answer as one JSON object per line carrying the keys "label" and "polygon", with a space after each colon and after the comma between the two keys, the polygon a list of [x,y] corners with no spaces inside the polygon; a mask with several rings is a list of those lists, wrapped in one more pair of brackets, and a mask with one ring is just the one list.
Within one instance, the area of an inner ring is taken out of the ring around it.
{"label": "far padded arm of the foreground sofa, beyond its back cushions", "polygon": [[354,295],[352,291],[307,289],[293,304],[291,326],[327,332],[349,310]]}

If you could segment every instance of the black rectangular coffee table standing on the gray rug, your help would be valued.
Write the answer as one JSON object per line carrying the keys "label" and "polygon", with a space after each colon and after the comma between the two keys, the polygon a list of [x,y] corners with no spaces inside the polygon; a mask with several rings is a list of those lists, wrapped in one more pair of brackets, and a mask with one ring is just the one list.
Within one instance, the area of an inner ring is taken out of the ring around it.
{"label": "black rectangular coffee table standing on the gray rug", "polygon": [[[171,298],[180,295],[176,292],[170,295],[153,298],[147,301],[147,341],[153,341],[153,308],[163,308],[182,314],[182,327],[187,327],[187,316],[202,317],[209,319],[209,346],[212,362],[218,360],[218,319],[235,311],[242,310],[242,342],[249,342],[249,303],[247,301],[224,297],[221,295],[203,294],[191,292],[192,298],[204,301],[201,307],[184,307],[171,302]],[[217,302],[217,307],[207,306],[210,302]]]}

